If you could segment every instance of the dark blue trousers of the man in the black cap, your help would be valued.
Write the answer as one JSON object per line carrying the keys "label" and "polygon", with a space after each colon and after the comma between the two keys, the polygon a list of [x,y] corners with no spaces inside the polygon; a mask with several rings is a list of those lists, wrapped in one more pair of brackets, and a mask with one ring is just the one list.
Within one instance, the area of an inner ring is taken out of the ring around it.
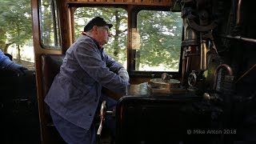
{"label": "dark blue trousers of the man in the black cap", "polygon": [[[112,98],[102,94],[100,98],[99,107],[102,102],[106,101],[107,110],[113,110],[116,106],[116,101]],[[96,112],[98,113],[98,110]],[[92,122],[90,130],[82,129],[79,126],[74,125],[73,123],[67,121],[65,118],[62,118],[54,110],[50,109],[50,115],[53,119],[54,126],[58,130],[58,133],[62,136],[63,140],[69,144],[95,144],[96,143],[96,130],[95,123]],[[111,115],[106,115],[105,126],[106,129],[110,130],[112,136],[115,136],[115,119]]]}

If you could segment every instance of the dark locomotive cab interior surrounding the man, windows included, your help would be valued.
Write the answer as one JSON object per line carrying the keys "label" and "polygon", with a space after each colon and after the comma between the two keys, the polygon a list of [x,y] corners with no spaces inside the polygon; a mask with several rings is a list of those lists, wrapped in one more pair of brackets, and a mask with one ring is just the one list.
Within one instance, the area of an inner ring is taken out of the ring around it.
{"label": "dark locomotive cab interior surrounding the man, windows included", "polygon": [[0,70],[3,123],[19,114],[10,103],[25,102],[26,114],[36,111],[22,118],[38,126],[40,138],[34,138],[65,143],[43,100],[66,50],[98,14],[115,20],[105,50],[130,75],[126,95],[104,89],[118,105],[99,117],[112,114],[117,130],[109,138],[103,122],[98,143],[255,143],[255,6],[244,0],[31,0],[35,70],[26,76]]}

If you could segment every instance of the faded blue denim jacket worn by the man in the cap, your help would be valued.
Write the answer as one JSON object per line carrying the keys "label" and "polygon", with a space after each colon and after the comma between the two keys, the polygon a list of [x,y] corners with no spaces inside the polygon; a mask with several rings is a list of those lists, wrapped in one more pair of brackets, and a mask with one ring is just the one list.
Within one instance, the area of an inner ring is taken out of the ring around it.
{"label": "faded blue denim jacket worn by the man in the cap", "polygon": [[129,82],[116,74],[121,67],[93,38],[83,35],[66,51],[45,102],[62,118],[89,130],[102,86],[125,94]]}

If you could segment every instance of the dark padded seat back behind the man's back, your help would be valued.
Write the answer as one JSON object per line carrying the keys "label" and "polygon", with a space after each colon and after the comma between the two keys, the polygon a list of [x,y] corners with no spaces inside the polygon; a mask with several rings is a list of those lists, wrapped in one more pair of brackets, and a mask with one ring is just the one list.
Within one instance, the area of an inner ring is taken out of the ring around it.
{"label": "dark padded seat back behind the man's back", "polygon": [[[40,122],[41,122],[41,131],[42,131],[42,143],[56,143],[64,144],[61,136],[58,134],[58,131],[55,129],[55,126],[50,117],[49,106],[43,102],[46,94],[48,93],[52,82],[54,81],[55,75],[58,74],[60,66],[62,66],[63,59],[65,58],[64,54],[42,54],[42,108],[40,108]],[[41,106],[40,106],[41,107]]]}

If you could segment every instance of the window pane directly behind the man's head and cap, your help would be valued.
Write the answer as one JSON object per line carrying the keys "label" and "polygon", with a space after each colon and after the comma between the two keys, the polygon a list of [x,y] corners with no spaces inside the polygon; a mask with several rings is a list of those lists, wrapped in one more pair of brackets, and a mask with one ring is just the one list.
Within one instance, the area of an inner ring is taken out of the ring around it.
{"label": "window pane directly behind the man's head and cap", "polygon": [[108,8],[108,7],[80,7],[74,13],[74,33],[75,38],[81,36],[84,26],[90,19],[95,17],[102,17],[113,24],[110,29],[112,37],[110,41],[104,46],[106,54],[114,58],[116,61],[122,63],[126,67],[127,57],[127,11],[122,8]]}

